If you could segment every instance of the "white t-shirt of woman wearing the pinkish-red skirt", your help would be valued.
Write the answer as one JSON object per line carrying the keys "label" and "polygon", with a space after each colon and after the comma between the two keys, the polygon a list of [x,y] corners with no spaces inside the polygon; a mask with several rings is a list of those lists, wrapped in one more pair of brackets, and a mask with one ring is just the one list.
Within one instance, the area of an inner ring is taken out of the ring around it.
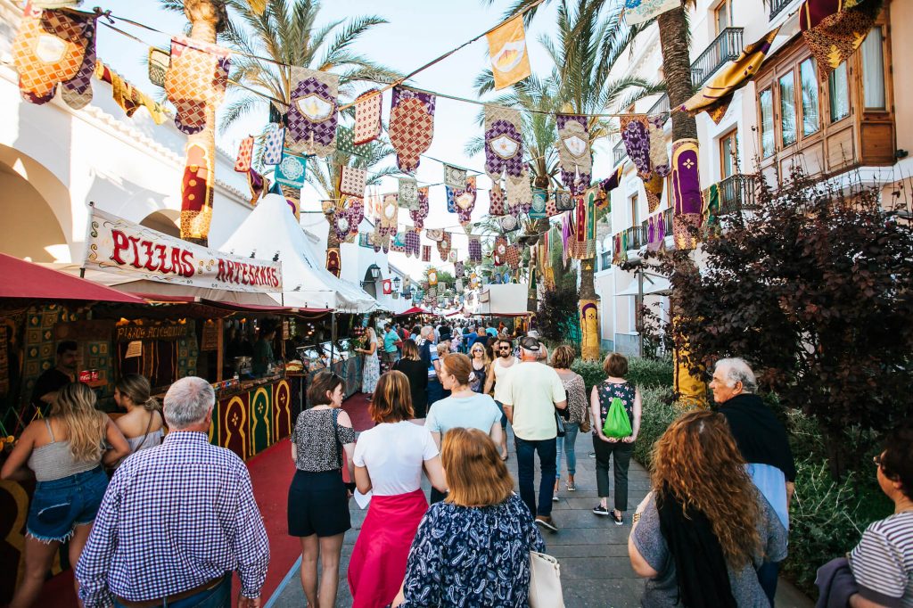
{"label": "white t-shirt of woman wearing the pinkish-red skirt", "polygon": [[437,456],[431,432],[404,420],[363,431],[355,444],[355,466],[365,466],[376,496],[415,492],[422,485],[422,465]]}

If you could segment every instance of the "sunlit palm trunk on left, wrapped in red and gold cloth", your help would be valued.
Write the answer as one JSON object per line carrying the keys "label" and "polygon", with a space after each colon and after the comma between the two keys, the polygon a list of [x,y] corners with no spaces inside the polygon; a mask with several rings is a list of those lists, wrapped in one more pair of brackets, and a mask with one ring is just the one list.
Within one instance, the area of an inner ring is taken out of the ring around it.
{"label": "sunlit palm trunk on left, wrapped in red and gold cloth", "polygon": [[[184,15],[190,21],[190,37],[200,42],[215,44],[215,37],[224,25],[225,5],[220,0],[188,0]],[[184,175],[191,185],[205,181],[205,200],[191,200],[194,194],[181,197],[181,238],[206,246],[209,225],[213,217],[215,189],[215,105],[206,104],[206,126],[203,131],[187,136]],[[199,190],[197,190],[199,192]]]}

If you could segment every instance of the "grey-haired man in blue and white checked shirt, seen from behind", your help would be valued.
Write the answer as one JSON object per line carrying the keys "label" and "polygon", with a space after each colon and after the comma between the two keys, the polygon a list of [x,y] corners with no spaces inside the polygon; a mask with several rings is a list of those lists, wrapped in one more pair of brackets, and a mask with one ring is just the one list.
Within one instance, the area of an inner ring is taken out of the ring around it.
{"label": "grey-haired man in blue and white checked shirt, seen from behind", "polygon": [[260,605],[267,531],[244,462],[209,443],[214,405],[202,378],[173,383],[162,446],[130,456],[114,474],[76,568],[86,608],[227,608],[234,571],[238,606]]}

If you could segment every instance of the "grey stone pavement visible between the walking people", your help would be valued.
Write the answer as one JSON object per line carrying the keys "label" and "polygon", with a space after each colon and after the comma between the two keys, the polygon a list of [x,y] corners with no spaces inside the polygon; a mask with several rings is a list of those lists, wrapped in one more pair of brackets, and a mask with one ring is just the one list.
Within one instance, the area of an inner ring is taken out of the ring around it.
{"label": "grey stone pavement visible between the walking people", "polygon": [[[512,443],[511,436],[508,442],[510,447],[508,468],[510,474],[516,479],[517,459]],[[596,516],[592,511],[592,508],[599,502],[599,498],[596,493],[596,461],[588,456],[593,451],[591,435],[578,435],[576,451],[577,491],[567,491],[565,479],[562,478],[561,489],[558,492],[559,501],[554,504],[552,511],[552,516],[560,527],[560,531],[551,533],[541,530],[546,550],[561,562],[564,603],[567,608],[638,606],[644,581],[638,578],[631,569],[631,562],[627,557],[627,538],[631,530],[630,515],[649,490],[649,475],[643,466],[632,461],[628,475],[628,512],[625,514],[624,526],[616,526],[611,518]],[[566,471],[564,473],[566,474]],[[609,478],[612,480],[611,471]],[[426,489],[430,487],[426,479],[423,487]],[[537,480],[537,491],[538,487]],[[609,499],[610,508],[612,499],[611,497]],[[346,582],[346,565],[349,562],[349,556],[352,555],[352,546],[355,539],[358,538],[358,532],[367,513],[358,508],[354,500],[351,501],[351,508],[352,529],[346,533],[345,543],[342,547],[337,606],[352,605],[352,595]],[[304,605],[304,592],[301,590],[299,570],[296,564],[292,571],[289,571],[289,576],[286,577],[282,586],[266,604],[266,608],[300,608]],[[788,582],[781,580],[777,591],[778,608],[810,608],[811,606],[813,603],[807,597],[795,590]]]}

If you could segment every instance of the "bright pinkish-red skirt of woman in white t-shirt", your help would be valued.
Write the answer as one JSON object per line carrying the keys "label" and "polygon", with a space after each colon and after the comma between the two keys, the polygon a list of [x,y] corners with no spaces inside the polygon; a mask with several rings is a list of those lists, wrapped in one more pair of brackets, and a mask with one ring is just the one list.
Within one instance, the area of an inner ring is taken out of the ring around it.
{"label": "bright pinkish-red skirt of woman in white t-shirt", "polygon": [[349,561],[352,608],[383,608],[394,601],[415,530],[426,510],[428,501],[421,489],[371,498]]}

